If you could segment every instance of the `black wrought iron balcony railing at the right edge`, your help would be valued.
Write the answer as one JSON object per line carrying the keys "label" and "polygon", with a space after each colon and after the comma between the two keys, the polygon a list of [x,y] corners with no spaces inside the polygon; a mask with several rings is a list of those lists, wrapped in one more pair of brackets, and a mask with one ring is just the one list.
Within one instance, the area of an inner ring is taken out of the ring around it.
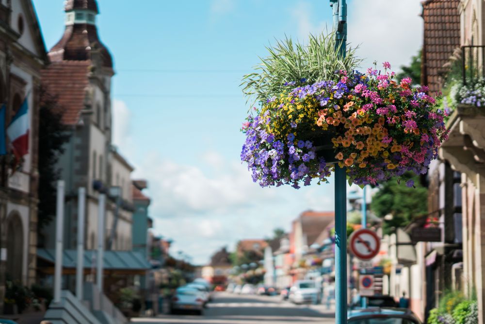
{"label": "black wrought iron balcony railing at the right edge", "polygon": [[467,45],[461,47],[463,84],[485,77],[485,46]]}

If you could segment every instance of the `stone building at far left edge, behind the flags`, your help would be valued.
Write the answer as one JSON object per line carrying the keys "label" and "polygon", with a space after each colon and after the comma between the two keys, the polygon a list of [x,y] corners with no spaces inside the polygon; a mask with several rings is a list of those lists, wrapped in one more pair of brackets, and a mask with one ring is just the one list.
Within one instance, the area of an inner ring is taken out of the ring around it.
{"label": "stone building at far left edge, behind the flags", "polygon": [[[41,69],[47,56],[31,0],[0,0],[0,104],[10,120],[27,100],[29,153],[12,172],[12,152],[0,157],[0,308],[5,279],[35,281],[38,118]],[[7,142],[7,147],[9,143]]]}

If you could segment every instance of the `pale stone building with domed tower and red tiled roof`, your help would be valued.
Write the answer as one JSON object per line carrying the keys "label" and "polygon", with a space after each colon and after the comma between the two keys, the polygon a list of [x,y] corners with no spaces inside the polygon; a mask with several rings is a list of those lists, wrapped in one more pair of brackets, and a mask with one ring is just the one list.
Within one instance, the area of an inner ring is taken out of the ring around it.
{"label": "pale stone building with domed tower and red tiled roof", "polygon": [[[108,194],[107,243],[110,243],[114,214],[118,210],[111,248],[131,250],[130,173],[133,168],[111,142],[113,58],[98,36],[96,0],[68,0],[65,13],[64,34],[49,51],[50,64],[42,73],[42,83],[50,94],[58,97],[63,109],[63,122],[71,133],[59,162],[66,188],[64,245],[66,249],[76,246],[77,190],[85,187],[86,249],[97,246],[98,196],[103,192]],[[122,195],[118,209],[113,188],[120,189]],[[46,231],[53,233],[53,227],[51,223]],[[53,239],[53,235],[46,236],[45,247],[53,248]]]}

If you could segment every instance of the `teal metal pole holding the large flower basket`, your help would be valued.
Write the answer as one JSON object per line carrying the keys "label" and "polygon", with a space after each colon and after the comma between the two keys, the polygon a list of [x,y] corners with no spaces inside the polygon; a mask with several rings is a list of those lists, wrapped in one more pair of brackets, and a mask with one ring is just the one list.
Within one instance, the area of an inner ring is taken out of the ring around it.
{"label": "teal metal pole holding the large flower basket", "polygon": [[[342,57],[347,49],[346,0],[330,0],[335,47]],[[335,323],[347,323],[347,175],[335,165]]]}

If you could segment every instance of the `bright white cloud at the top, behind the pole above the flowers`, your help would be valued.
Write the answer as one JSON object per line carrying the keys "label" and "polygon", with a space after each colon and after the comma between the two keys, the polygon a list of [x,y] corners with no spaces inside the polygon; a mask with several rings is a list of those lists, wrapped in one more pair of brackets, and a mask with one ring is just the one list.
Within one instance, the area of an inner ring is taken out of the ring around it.
{"label": "bright white cloud at the top, behind the pole above the flowers", "polygon": [[[348,42],[359,45],[357,55],[366,59],[361,68],[378,67],[388,61],[395,71],[411,61],[422,44],[420,0],[353,0],[347,2]],[[300,1],[291,8],[291,16],[298,28],[298,37],[332,29],[331,8],[314,15],[311,2]],[[320,19],[320,20],[316,20]],[[326,21],[330,25],[326,24]]]}

